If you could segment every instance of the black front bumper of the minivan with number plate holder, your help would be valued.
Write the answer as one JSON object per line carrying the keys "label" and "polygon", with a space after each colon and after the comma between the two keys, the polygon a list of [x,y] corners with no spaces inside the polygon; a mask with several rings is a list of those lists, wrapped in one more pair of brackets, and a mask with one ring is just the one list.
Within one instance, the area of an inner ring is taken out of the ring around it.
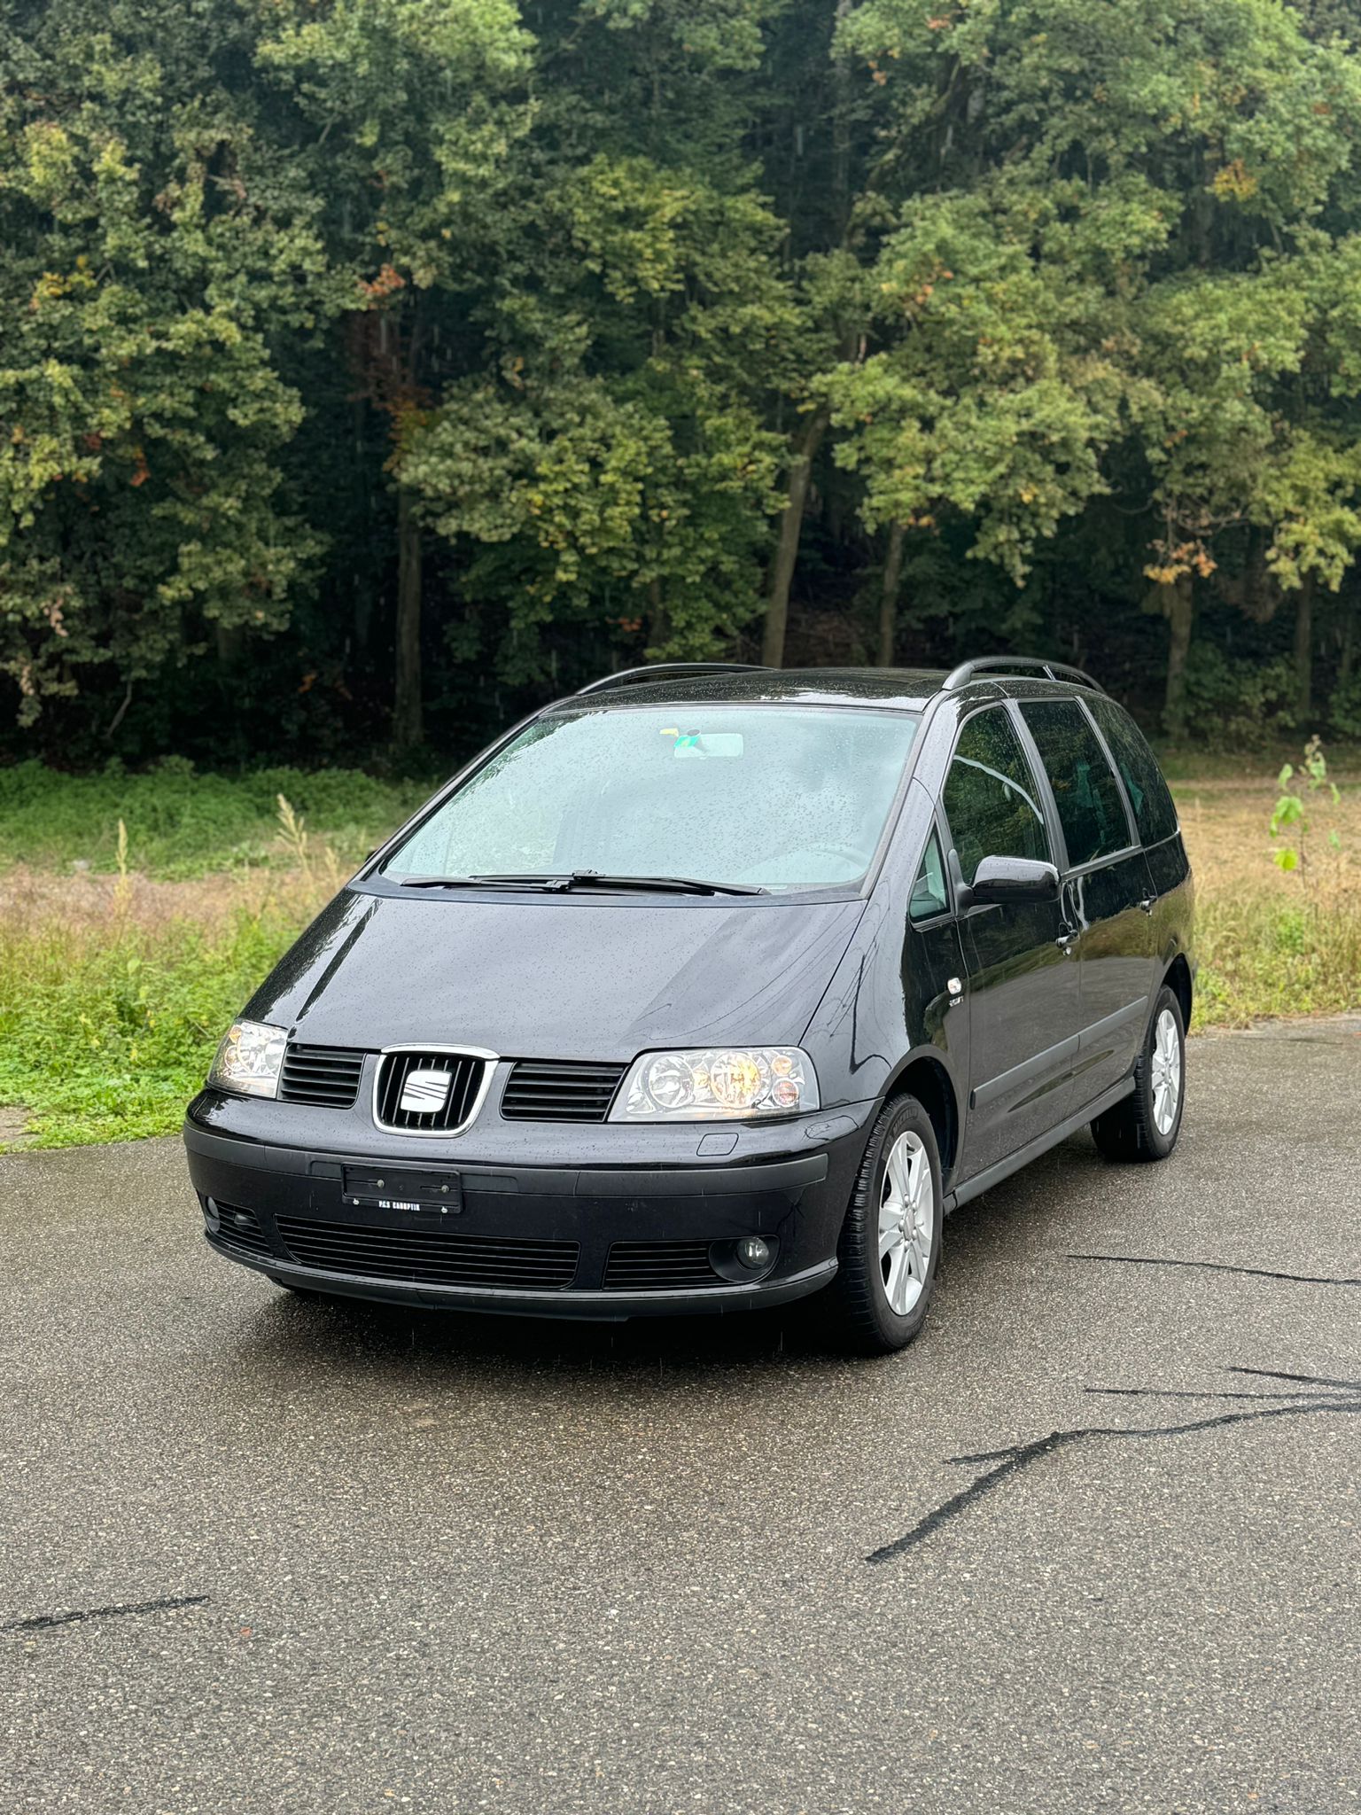
{"label": "black front bumper of the minivan with number plate holder", "polygon": [[[207,1240],[223,1258],[328,1294],[612,1321],[751,1310],[826,1285],[873,1113],[815,1114],[757,1140],[744,1131],[740,1154],[704,1163],[693,1158],[702,1129],[688,1133],[688,1163],[666,1142],[666,1160],[648,1165],[646,1134],[630,1131],[626,1160],[602,1163],[606,1131],[559,1127],[557,1156],[575,1149],[581,1163],[548,1165],[474,1158],[468,1136],[439,1153],[399,1136],[381,1154],[368,1140],[359,1153],[283,1145],[274,1120],[274,1138],[245,1134],[245,1105],[232,1105],[230,1133],[205,1125],[227,1120],[218,1107],[196,1100],[183,1138],[205,1212],[212,1200]],[[318,1114],[296,1133],[321,1133]],[[381,1209],[352,1202],[361,1172],[381,1172]],[[450,1205],[430,1196],[445,1172],[455,1180]],[[423,1182],[423,1202],[403,1178]],[[775,1260],[746,1281],[726,1256],[753,1234]],[[706,1265],[706,1254],[717,1260]]]}

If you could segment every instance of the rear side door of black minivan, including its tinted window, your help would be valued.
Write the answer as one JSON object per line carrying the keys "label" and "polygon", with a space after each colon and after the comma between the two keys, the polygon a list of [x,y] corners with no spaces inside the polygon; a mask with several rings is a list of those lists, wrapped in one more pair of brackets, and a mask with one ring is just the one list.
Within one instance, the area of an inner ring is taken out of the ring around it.
{"label": "rear side door of black minivan, including its tinted window", "polygon": [[1076,931],[1082,1038],[1069,1113],[1129,1074],[1149,1018],[1156,949],[1152,882],[1125,793],[1076,699],[1027,701],[1022,719],[1054,793]]}

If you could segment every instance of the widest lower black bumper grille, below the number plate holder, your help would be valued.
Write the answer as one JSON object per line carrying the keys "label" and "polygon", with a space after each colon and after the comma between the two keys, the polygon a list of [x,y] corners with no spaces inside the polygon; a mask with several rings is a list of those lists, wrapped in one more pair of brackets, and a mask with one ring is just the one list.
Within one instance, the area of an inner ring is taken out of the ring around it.
{"label": "widest lower black bumper grille, below the number plate holder", "polygon": [[561,1292],[577,1274],[577,1241],[503,1241],[443,1229],[314,1223],[279,1216],[279,1234],[303,1267],[401,1285],[481,1285]]}

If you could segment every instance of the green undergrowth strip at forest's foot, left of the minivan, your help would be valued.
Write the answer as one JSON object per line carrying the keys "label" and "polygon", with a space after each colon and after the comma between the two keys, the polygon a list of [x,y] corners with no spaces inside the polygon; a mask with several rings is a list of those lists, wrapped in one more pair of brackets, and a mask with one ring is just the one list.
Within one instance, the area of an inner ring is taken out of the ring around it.
{"label": "green undergrowth strip at forest's foot, left of the minivan", "polygon": [[151,877],[200,877],[279,855],[278,797],[308,829],[356,864],[430,788],[392,784],[357,770],[256,770],[196,775],[169,757],[142,775],[111,764],[98,775],[60,775],[40,762],[0,770],[0,868],[25,862],[94,871],[118,868],[118,826],[131,864]]}

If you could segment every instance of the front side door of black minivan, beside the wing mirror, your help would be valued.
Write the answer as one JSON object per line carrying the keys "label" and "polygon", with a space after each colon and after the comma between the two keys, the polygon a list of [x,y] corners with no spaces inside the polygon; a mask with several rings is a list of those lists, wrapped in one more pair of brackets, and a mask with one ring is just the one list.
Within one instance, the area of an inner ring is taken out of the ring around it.
{"label": "front side door of black minivan, beside the wing mirror", "polygon": [[[965,719],[944,786],[956,875],[985,857],[1054,862],[1040,788],[1005,704]],[[1078,1051],[1078,966],[1062,900],[960,917],[969,991],[969,1104],[960,1180],[1063,1120]]]}

